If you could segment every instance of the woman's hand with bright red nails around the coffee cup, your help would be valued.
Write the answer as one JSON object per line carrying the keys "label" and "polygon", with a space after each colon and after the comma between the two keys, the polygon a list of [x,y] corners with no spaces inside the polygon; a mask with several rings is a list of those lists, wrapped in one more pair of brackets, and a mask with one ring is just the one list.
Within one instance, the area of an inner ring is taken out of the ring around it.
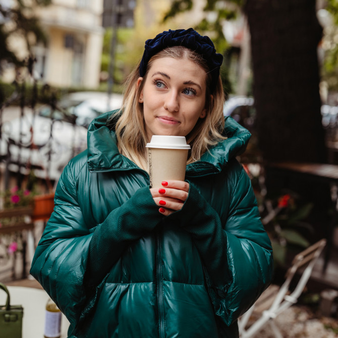
{"label": "woman's hand with bright red nails around the coffee cup", "polygon": [[162,182],[163,188],[150,188],[154,202],[160,207],[158,211],[167,216],[182,209],[188,198],[189,183],[184,181]]}

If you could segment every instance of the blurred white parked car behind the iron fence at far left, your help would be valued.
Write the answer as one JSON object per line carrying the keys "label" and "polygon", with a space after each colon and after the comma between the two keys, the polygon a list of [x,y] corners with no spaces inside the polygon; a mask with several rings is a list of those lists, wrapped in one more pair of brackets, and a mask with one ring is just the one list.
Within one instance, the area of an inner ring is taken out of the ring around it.
{"label": "blurred white parked car behind the iron fence at far left", "polygon": [[[21,142],[20,142],[21,130]],[[62,120],[35,116],[32,112],[3,125],[0,151],[9,170],[58,180],[72,156],[87,147],[87,129]]]}

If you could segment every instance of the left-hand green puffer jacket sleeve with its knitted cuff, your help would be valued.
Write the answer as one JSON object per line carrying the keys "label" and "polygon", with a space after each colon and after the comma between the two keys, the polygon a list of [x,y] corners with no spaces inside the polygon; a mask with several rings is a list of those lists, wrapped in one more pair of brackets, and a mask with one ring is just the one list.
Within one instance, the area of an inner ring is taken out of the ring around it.
{"label": "left-hand green puffer jacket sleeve with its knitted cuff", "polygon": [[[88,230],[70,165],[59,180],[54,205],[30,272],[75,327],[90,303],[85,276],[99,283],[127,243],[153,229],[161,215],[149,187],[144,187],[112,210],[94,230]],[[150,215],[146,221],[145,213]]]}

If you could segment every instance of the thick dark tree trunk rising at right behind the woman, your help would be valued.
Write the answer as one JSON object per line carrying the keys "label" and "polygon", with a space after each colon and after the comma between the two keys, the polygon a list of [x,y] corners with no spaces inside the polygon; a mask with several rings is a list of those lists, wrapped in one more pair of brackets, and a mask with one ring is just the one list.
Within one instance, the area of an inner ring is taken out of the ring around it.
{"label": "thick dark tree trunk rising at right behind the woman", "polygon": [[315,0],[247,0],[244,11],[264,159],[326,162]]}

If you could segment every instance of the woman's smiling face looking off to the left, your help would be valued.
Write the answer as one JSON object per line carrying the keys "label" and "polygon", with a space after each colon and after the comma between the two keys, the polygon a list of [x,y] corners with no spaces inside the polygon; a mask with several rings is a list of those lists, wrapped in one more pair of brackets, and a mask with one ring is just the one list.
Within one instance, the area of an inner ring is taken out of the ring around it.
{"label": "woman's smiling face looking off to the left", "polygon": [[155,60],[140,95],[148,142],[152,135],[187,136],[206,116],[206,73],[187,59]]}

